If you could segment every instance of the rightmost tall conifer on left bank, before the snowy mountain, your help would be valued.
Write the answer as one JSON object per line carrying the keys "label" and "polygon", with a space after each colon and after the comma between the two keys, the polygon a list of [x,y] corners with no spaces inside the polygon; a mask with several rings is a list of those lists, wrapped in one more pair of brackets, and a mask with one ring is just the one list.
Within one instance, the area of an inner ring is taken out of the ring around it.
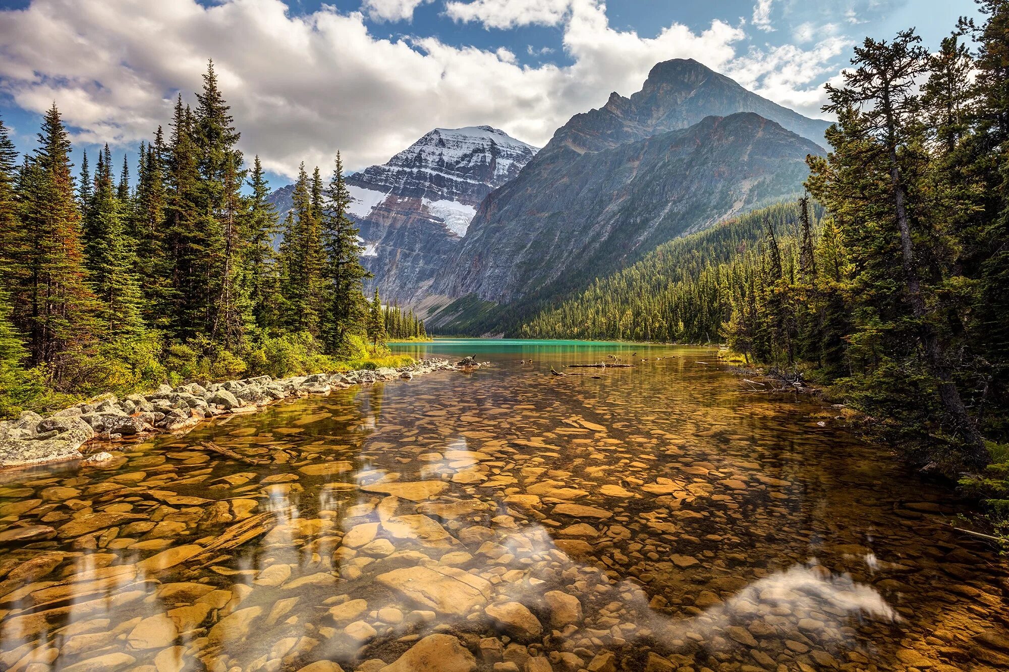
{"label": "rightmost tall conifer on left bank, before the snowy mountain", "polygon": [[364,326],[364,295],[361,281],[371,277],[360,262],[357,227],[347,217],[350,191],[343,180],[343,161],[337,152],[333,177],[322,204],[322,241],[326,250],[325,275],[328,306],[323,339],[329,352],[337,352],[349,334]]}

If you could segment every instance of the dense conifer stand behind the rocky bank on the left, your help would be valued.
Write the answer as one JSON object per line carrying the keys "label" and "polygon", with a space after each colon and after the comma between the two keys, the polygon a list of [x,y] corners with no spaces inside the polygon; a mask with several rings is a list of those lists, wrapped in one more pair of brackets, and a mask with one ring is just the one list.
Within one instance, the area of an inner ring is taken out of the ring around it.
{"label": "dense conifer stand behind the rocky bank on the left", "polygon": [[[0,416],[184,379],[290,375],[387,356],[413,313],[367,301],[339,153],[304,164],[283,222],[213,64],[195,107],[140,144],[71,162],[55,104],[19,158],[0,122]],[[274,247],[275,240],[282,240]]]}

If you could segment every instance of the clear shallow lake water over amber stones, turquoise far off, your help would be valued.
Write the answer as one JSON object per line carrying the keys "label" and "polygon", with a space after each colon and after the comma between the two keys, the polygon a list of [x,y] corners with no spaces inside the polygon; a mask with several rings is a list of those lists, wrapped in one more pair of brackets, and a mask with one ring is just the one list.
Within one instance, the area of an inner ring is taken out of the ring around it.
{"label": "clear shallow lake water over amber stones, turquoise far off", "polygon": [[0,547],[0,669],[1009,669],[1006,561],[829,406],[711,348],[394,347],[490,363],[0,474],[55,531]]}

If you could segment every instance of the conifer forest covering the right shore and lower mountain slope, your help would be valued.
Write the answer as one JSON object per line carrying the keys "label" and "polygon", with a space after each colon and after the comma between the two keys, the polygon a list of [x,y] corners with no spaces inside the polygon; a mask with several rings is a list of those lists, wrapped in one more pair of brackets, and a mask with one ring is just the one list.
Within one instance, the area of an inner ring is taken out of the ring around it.
{"label": "conifer forest covering the right shore and lower mountain slope", "polygon": [[933,52],[912,30],[856,48],[807,197],[666,243],[522,334],[724,342],[922,464],[994,461],[965,482],[1009,511],[1009,6],[980,6]]}

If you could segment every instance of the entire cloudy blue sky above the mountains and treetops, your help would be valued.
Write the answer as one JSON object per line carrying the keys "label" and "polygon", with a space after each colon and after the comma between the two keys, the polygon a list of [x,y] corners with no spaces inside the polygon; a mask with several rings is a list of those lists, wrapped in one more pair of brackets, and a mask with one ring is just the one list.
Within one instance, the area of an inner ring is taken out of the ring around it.
{"label": "entire cloudy blue sky above the mountains and treetops", "polygon": [[0,0],[0,115],[21,150],[53,99],[116,160],[193,102],[207,59],[274,185],[336,149],[361,169],[433,127],[545,143],[572,114],[694,58],[803,114],[865,35],[935,45],[972,0]]}

